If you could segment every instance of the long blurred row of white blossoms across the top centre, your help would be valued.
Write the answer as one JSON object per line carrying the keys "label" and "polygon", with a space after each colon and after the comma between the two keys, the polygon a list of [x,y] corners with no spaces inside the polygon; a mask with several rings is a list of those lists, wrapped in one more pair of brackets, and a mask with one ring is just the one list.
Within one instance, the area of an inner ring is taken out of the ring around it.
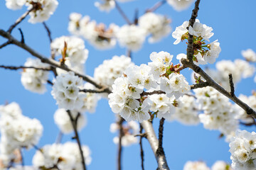
{"label": "long blurred row of white blossoms across the top centre", "polygon": [[[111,4],[111,1],[106,1]],[[149,42],[157,42],[171,32],[170,20],[155,13],[145,13],[138,18],[138,25],[124,25],[122,27],[110,24],[109,28],[102,23],[90,21],[89,16],[71,13],[68,30],[74,35],[80,35],[99,49],[114,47],[119,42],[129,50],[139,50],[147,35],[151,35]]]}

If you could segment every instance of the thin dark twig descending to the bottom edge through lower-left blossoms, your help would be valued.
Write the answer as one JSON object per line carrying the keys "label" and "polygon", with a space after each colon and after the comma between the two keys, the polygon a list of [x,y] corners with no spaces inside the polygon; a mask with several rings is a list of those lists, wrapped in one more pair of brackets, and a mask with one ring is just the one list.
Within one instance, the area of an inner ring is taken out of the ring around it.
{"label": "thin dark twig descending to the bottom edge through lower-left blossoms", "polygon": [[71,115],[71,112],[70,111],[67,111],[67,112],[68,112],[68,116],[70,117],[70,121],[71,121],[71,124],[73,126],[73,130],[75,132],[75,137],[73,137],[73,139],[75,139],[78,143],[78,147],[79,147],[79,151],[80,151],[80,157],[81,157],[82,169],[86,170],[85,157],[83,156],[83,153],[82,153],[82,146],[81,146],[80,138],[79,138],[79,135],[78,135],[77,125],[75,124],[75,120],[74,120],[73,116]]}

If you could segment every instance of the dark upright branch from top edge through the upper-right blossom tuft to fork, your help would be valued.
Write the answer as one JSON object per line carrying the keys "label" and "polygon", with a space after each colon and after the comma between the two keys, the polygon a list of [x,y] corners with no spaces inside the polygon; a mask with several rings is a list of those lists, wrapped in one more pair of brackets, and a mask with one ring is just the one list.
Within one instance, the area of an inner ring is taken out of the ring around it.
{"label": "dark upright branch from top edge through the upper-right blossom tuft to fork", "polygon": [[[198,7],[199,3],[200,3],[200,0],[197,0],[195,2],[195,8],[192,11],[192,15],[191,15],[191,18],[189,20],[188,27],[189,26],[193,27],[193,24],[196,21],[196,17],[198,16],[198,11],[199,11],[199,7]],[[187,57],[188,57],[188,60],[191,61],[191,62],[193,60],[193,52],[194,52],[194,50],[193,50],[193,35],[188,33]]]}

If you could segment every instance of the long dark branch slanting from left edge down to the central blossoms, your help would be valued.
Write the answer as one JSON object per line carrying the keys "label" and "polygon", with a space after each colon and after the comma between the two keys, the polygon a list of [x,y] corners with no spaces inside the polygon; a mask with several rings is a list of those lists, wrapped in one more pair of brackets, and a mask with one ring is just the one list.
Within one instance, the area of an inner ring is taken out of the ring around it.
{"label": "long dark branch slanting from left edge down to the central blossoms", "polygon": [[[44,57],[43,55],[39,54],[38,52],[36,52],[35,50],[33,50],[31,47],[29,47],[26,44],[23,44],[21,42],[19,42],[18,40],[16,40],[16,38],[14,38],[13,36],[11,36],[9,33],[7,33],[4,30],[0,29],[0,35],[8,40],[11,41],[12,44],[17,45],[18,47],[23,48],[24,50],[26,50],[27,52],[29,52],[31,55],[33,55],[34,57],[37,57],[38,59],[41,60],[41,62],[45,62],[47,64],[50,64],[53,67],[58,67],[60,69],[63,69],[67,72],[74,72],[75,75],[77,75],[78,77],[82,77],[83,80],[87,81],[90,84],[93,84],[94,86],[96,86],[98,89],[102,89],[103,86],[101,86],[100,84],[97,84],[95,81],[92,80],[92,78],[82,75],[78,72],[73,71],[72,69],[66,67],[65,65],[61,65],[59,62],[56,62],[55,60],[52,59],[48,59],[47,57]],[[107,93],[111,93],[110,89],[107,90]]]}

